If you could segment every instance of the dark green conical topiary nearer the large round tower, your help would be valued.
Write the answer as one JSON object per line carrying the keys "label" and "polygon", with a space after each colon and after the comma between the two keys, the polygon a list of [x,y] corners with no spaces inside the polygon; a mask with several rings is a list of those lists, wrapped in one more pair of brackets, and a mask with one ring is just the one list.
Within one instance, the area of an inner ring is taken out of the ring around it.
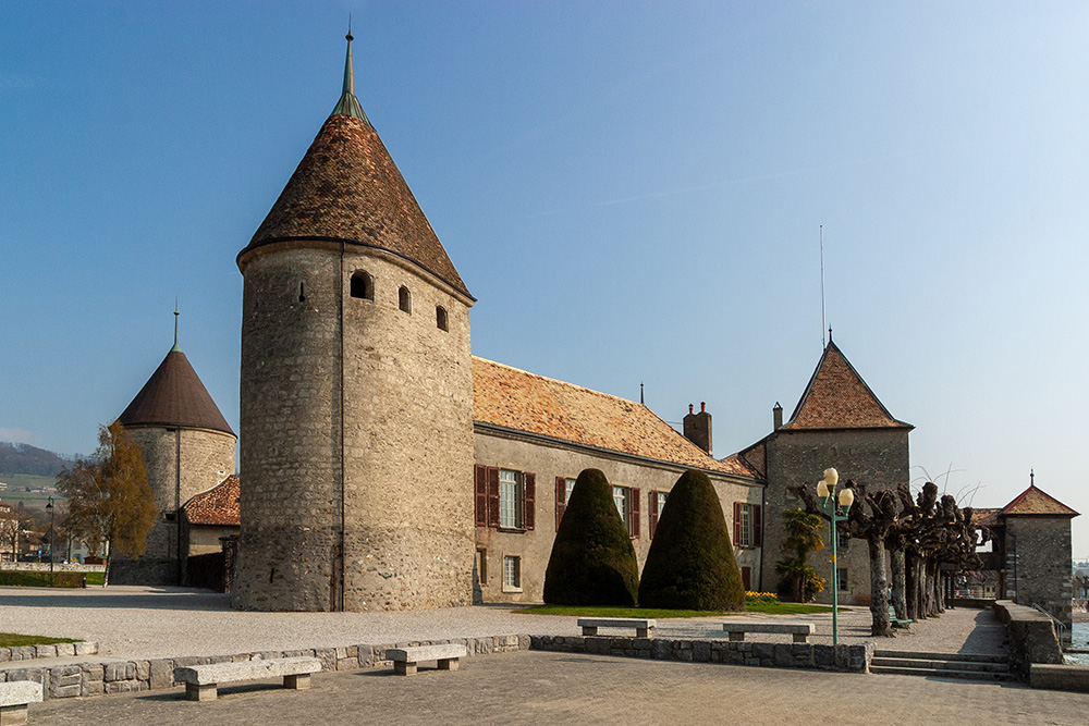
{"label": "dark green conical topiary nearer the large round tower", "polygon": [[635,605],[639,563],[613,503],[612,487],[598,469],[578,475],[552,543],[544,573],[551,605]]}

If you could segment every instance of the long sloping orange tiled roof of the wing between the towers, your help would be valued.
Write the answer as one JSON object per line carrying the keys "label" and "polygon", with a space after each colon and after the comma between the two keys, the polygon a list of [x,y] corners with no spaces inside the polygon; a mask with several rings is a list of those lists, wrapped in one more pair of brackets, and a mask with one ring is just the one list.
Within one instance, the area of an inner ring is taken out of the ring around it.
{"label": "long sloping orange tiled roof of the wing between the towers", "polygon": [[473,420],[595,448],[754,478],[633,401],[473,357]]}

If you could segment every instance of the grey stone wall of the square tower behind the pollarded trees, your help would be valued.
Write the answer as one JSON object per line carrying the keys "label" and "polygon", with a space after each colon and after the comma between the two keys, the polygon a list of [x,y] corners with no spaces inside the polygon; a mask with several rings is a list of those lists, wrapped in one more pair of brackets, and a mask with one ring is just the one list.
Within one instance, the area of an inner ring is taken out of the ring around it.
{"label": "grey stone wall of the square tower behind the pollarded trees", "polygon": [[[824,469],[835,467],[841,487],[848,479],[870,491],[893,489],[909,481],[908,432],[906,429],[860,429],[848,431],[784,431],[768,439],[768,489],[764,507],[763,571],[764,588],[774,591],[775,563],[786,553],[783,512],[800,505],[792,493],[807,484],[816,495],[817,482]],[[809,556],[809,564],[827,581],[818,602],[831,603],[832,553],[828,522],[824,524],[825,549]],[[839,553],[839,566],[847,569],[846,588],[841,585],[840,602],[857,603],[870,595],[869,553],[865,541],[848,540],[847,550]]]}

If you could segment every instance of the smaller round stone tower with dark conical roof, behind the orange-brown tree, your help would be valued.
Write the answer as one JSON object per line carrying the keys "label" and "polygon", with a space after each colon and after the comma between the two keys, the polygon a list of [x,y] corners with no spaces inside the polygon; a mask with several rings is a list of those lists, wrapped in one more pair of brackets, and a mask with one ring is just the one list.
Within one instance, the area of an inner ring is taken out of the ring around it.
{"label": "smaller round stone tower with dark conical roof, behind the orange-brown tree", "polygon": [[179,549],[179,510],[234,473],[237,438],[178,346],[174,315],[174,347],[118,418],[144,450],[159,517],[143,555],[114,559],[115,585],[182,585],[187,553]]}

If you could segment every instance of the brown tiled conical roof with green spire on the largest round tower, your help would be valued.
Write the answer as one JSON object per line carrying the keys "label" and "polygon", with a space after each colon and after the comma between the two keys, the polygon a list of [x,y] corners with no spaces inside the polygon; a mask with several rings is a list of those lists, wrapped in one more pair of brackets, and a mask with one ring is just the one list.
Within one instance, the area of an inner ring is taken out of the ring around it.
{"label": "brown tiled conical roof with green spire on the largest round tower", "polygon": [[240,266],[248,253],[274,242],[347,243],[389,250],[472,298],[350,88],[351,59],[350,44],[341,100],[238,254]]}

